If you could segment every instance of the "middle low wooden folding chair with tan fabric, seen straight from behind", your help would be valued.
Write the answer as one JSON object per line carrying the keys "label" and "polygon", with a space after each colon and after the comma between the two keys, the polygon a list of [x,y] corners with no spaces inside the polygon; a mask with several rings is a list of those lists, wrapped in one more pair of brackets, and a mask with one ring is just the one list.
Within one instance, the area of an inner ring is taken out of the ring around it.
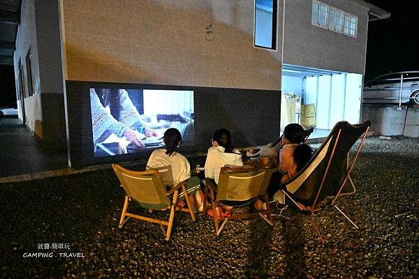
{"label": "middle low wooden folding chair with tan fabric, seen straight from behind", "polygon": [[[234,213],[234,209],[251,205],[258,197],[264,197],[267,201],[267,185],[274,169],[256,169],[254,167],[222,167],[220,170],[218,186],[212,179],[206,178],[204,212],[207,212],[207,197],[210,195],[212,212],[214,213],[214,229],[216,236],[219,236],[227,220],[262,217],[267,223],[273,225],[270,205],[266,203],[267,209],[255,213]],[[215,198],[216,194],[216,198]],[[245,202],[248,201],[248,202]],[[244,202],[244,204],[233,206],[231,215],[223,216],[223,223],[219,227],[221,217],[216,214],[216,208],[223,205],[223,202]]]}

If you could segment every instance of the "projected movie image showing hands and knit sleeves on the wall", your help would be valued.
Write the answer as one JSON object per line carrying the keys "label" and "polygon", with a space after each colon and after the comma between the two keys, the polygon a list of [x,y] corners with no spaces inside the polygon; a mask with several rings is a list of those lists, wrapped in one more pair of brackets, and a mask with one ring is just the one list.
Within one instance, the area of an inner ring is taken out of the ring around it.
{"label": "projected movie image showing hands and knit sleeves on the wall", "polygon": [[193,144],[193,91],[91,88],[90,106],[95,157],[162,148],[168,128]]}

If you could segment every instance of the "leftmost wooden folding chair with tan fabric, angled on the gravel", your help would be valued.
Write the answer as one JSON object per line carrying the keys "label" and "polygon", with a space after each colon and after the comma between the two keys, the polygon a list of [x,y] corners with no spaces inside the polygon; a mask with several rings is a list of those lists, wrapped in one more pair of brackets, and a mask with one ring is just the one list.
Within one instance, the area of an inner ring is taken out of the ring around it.
{"label": "leftmost wooden folding chair with tan fabric, angled on the gravel", "polygon": [[[192,211],[191,199],[189,199],[189,193],[199,188],[199,185],[196,188],[186,188],[186,181],[182,181],[177,186],[171,188],[170,190],[166,189],[166,186],[163,185],[161,175],[158,170],[147,170],[145,172],[135,172],[129,169],[125,169],[120,165],[112,165],[115,174],[117,174],[119,182],[121,183],[122,188],[125,191],[125,202],[124,208],[122,209],[121,220],[119,220],[119,228],[122,228],[124,223],[129,218],[135,218],[139,220],[145,220],[151,223],[157,223],[161,225],[163,234],[166,235],[166,241],[170,239],[170,232],[172,230],[173,218],[175,217],[175,211],[181,210],[189,212],[193,221],[196,220],[195,214]],[[182,192],[179,193],[179,190],[182,189]],[[188,208],[179,209],[176,204],[179,202],[179,199],[186,199],[186,204]],[[137,201],[140,206],[149,210],[149,213],[152,213],[153,210],[166,210],[170,209],[169,220],[159,220],[154,218],[149,218],[145,216],[139,216],[133,213],[128,213],[128,202],[134,199]],[[126,218],[128,217],[128,218]],[[168,228],[163,228],[167,226]]]}

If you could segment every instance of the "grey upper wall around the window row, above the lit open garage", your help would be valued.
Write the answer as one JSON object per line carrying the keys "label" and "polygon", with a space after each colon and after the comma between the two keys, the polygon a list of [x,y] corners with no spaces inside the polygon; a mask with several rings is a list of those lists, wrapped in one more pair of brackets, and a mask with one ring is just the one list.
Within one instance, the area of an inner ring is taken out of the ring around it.
{"label": "grey upper wall around the window row, above the lit open garage", "polygon": [[312,25],[312,0],[284,0],[284,63],[363,75],[367,52],[367,8],[347,0],[321,2],[358,16],[357,37]]}

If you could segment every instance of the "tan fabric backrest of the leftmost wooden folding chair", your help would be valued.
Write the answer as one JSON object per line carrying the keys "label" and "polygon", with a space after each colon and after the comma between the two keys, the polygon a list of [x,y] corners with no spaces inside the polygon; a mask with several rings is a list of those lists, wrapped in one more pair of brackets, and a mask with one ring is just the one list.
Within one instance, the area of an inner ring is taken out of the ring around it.
{"label": "tan fabric backrest of the leftmost wooden folding chair", "polygon": [[126,195],[140,202],[142,206],[168,206],[170,204],[170,199],[166,195],[166,186],[163,185],[158,170],[135,172],[120,165],[114,164],[112,167]]}

